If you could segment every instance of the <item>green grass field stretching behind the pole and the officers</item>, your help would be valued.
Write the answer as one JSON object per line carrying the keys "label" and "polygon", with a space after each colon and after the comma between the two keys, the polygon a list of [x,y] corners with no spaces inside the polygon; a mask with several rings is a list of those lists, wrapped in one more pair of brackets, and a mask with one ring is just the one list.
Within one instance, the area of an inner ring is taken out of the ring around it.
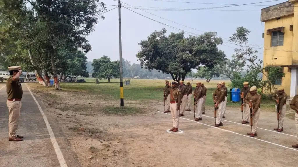
{"label": "green grass field stretching behind the pole and the officers", "polygon": [[[108,83],[107,80],[100,80],[100,84],[95,84],[94,78],[84,78],[86,83],[60,83],[61,88],[64,91],[75,91],[75,92],[90,92],[94,94],[105,94],[108,98],[117,100],[120,97],[120,80],[111,79],[111,83]],[[124,85],[124,101],[125,100],[134,100],[140,103],[144,103],[146,100],[160,100],[162,103],[163,100],[163,89],[165,80],[153,80],[153,79],[131,79],[130,85]],[[214,105],[212,100],[212,93],[216,89],[217,80],[212,80],[210,83],[206,83],[204,80],[193,80],[193,90],[195,89],[195,82],[200,81],[204,82],[204,85],[207,87],[207,100],[206,105]],[[229,87],[229,81],[226,81],[226,84]],[[52,89],[52,88],[46,88]],[[192,101],[193,103],[193,101]],[[240,107],[240,103],[228,102],[227,106],[230,107]],[[274,102],[269,100],[263,100],[262,108],[273,110]]]}

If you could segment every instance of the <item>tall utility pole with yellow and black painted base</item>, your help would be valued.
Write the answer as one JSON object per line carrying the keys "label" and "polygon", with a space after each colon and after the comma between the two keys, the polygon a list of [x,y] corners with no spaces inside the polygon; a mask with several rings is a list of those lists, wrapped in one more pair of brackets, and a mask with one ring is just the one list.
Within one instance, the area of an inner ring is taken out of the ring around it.
{"label": "tall utility pole with yellow and black painted base", "polygon": [[119,12],[120,106],[124,106],[123,78],[122,78],[121,1],[120,0],[118,0],[118,12]]}

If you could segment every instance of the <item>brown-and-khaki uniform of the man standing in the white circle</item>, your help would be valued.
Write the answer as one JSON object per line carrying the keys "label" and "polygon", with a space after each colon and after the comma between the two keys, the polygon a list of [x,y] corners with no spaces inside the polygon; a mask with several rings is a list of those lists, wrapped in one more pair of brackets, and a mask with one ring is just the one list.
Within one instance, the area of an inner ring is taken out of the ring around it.
{"label": "brown-and-khaki uniform of the man standing in the white circle", "polygon": [[170,92],[170,111],[172,114],[172,120],[173,120],[173,127],[179,128],[179,110],[177,110],[177,107],[180,107],[180,90],[175,88],[168,88],[168,91]]}

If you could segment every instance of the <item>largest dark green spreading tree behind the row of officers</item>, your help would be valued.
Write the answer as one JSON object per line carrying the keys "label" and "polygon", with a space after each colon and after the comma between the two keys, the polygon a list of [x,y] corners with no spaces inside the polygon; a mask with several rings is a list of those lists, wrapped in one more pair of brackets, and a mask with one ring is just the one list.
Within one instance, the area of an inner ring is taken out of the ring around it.
{"label": "largest dark green spreading tree behind the row of officers", "polygon": [[216,32],[187,38],[184,32],[171,32],[168,37],[166,32],[166,29],[154,31],[139,43],[141,51],[136,56],[142,68],[156,69],[171,74],[175,81],[184,81],[191,69],[200,65],[213,68],[224,60],[224,52],[217,48],[223,41],[216,37]]}

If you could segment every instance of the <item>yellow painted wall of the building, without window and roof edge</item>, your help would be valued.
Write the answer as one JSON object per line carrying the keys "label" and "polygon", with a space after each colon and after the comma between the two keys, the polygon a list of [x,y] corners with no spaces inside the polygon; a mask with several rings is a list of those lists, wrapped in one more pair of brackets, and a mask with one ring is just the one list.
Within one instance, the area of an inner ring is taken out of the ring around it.
{"label": "yellow painted wall of the building, without window and roof edge", "polygon": [[[295,6],[298,6],[296,4]],[[295,7],[296,8],[296,7]],[[297,12],[296,12],[297,13]],[[295,12],[294,12],[295,15]],[[264,57],[263,57],[263,65],[266,67],[267,65],[291,65],[292,64],[292,47],[294,34],[293,31],[290,31],[290,25],[294,23],[294,15],[288,15],[281,17],[279,20],[272,19],[265,22],[265,35],[264,35]],[[294,25],[298,31],[298,25]],[[283,46],[271,47],[271,35],[267,35],[266,31],[268,29],[273,29],[277,27],[285,27],[284,33],[284,43]],[[295,28],[294,28],[295,31]],[[296,31],[296,32],[297,32]],[[298,39],[297,39],[298,40]],[[298,42],[298,41],[297,41]],[[274,59],[277,58],[277,59]],[[297,57],[298,59],[298,57]],[[285,73],[285,77],[282,78],[282,86],[285,87],[285,92],[290,94],[290,86],[291,86],[291,71],[288,71],[288,68],[283,68],[283,73]],[[263,79],[267,79],[266,76],[263,76]],[[280,85],[277,85],[278,87]]]}

